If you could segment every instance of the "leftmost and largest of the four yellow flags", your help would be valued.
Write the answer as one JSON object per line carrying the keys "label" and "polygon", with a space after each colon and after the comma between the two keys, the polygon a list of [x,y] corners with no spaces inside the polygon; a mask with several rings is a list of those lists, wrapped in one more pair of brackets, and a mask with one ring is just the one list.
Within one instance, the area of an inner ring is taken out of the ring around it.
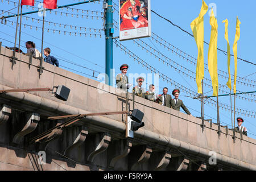
{"label": "leftmost and largest of the four yellow flags", "polygon": [[190,24],[198,48],[196,65],[197,93],[202,93],[201,81],[204,79],[204,15],[208,11],[207,4],[204,0],[202,2],[199,16]]}

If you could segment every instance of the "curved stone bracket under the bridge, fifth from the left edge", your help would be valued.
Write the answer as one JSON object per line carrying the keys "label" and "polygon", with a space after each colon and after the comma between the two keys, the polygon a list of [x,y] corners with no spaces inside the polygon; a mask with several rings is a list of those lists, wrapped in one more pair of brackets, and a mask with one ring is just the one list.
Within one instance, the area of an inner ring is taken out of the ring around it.
{"label": "curved stone bracket under the bridge, fifth from the left edge", "polygon": [[[95,138],[96,140],[98,139],[97,137]],[[101,152],[104,152],[108,146],[109,142],[111,141],[111,136],[109,133],[103,133],[101,135],[100,141],[96,141],[96,145],[93,148],[93,152],[91,152],[87,158],[89,162],[93,162],[94,158],[100,154]]]}

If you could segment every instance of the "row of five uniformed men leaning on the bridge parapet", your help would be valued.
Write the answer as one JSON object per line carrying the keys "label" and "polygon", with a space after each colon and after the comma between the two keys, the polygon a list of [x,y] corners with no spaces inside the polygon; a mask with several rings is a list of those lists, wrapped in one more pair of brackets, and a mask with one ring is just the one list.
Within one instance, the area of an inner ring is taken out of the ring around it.
{"label": "row of five uniformed men leaning on the bridge parapet", "polygon": [[[127,69],[129,66],[127,64],[123,64],[120,67],[121,73],[119,73],[116,77],[116,84],[117,87],[123,90],[129,89],[132,85],[129,84],[128,77],[126,75]],[[148,88],[149,90],[145,92],[144,88],[142,88],[142,84],[144,82],[143,77],[138,77],[136,79],[138,85],[133,87],[133,93],[136,96],[145,98],[147,100],[150,100],[152,102],[156,102],[160,105],[170,107],[172,109],[180,111],[180,107],[185,111],[185,113],[191,115],[187,107],[183,104],[183,101],[179,99],[180,90],[174,89],[172,90],[172,95],[174,98],[172,99],[172,96],[168,93],[168,88],[163,88],[163,93],[156,95],[155,93],[155,85],[151,84]]]}

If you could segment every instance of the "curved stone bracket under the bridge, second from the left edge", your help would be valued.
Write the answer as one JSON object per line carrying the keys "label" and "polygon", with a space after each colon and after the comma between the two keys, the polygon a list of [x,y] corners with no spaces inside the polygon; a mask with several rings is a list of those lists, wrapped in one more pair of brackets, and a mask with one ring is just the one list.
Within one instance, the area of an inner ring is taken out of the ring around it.
{"label": "curved stone bracket under the bridge, second from the left edge", "polygon": [[38,113],[28,113],[27,120],[23,123],[22,130],[14,136],[13,143],[21,143],[25,135],[36,129],[39,121],[40,115]]}

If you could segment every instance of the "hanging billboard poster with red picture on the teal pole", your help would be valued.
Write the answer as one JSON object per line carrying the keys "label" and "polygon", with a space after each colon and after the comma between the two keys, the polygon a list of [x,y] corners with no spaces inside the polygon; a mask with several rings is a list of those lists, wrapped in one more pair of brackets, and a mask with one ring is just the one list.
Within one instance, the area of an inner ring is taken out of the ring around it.
{"label": "hanging billboard poster with red picture on the teal pole", "polygon": [[119,40],[151,36],[150,0],[119,0]]}

